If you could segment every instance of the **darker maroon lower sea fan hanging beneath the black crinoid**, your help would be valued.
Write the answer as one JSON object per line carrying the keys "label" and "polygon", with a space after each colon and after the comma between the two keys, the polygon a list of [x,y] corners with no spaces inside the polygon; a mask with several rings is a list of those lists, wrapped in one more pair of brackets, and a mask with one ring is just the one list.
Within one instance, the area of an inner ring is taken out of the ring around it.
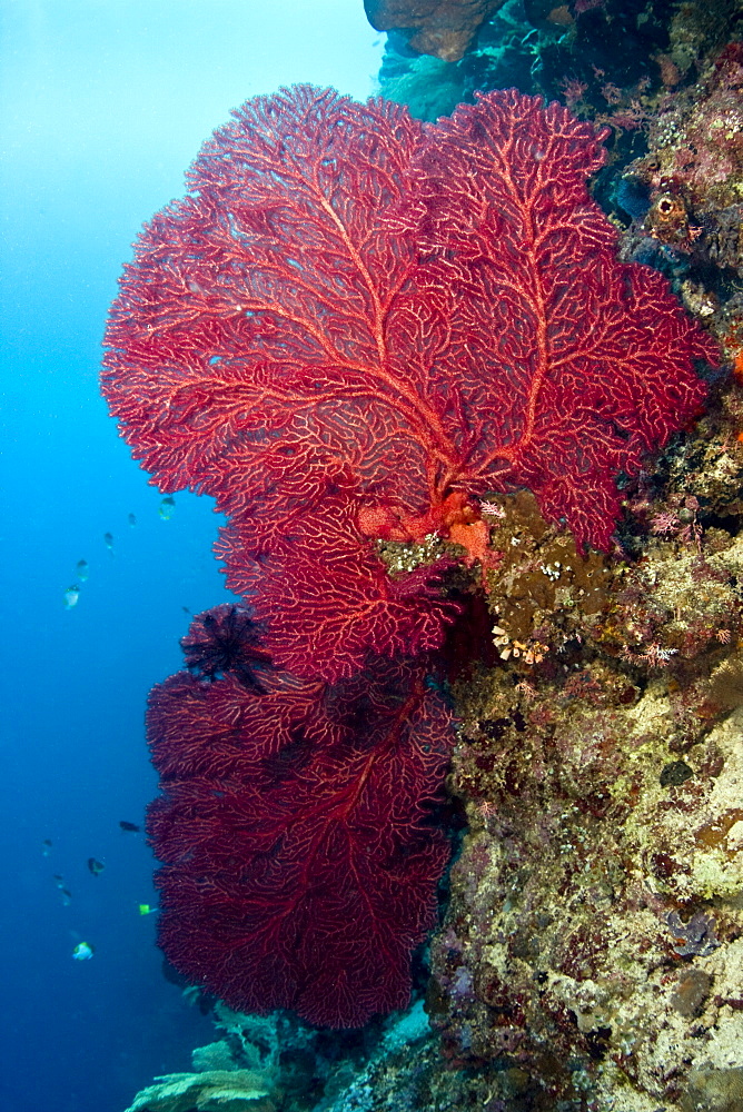
{"label": "darker maroon lower sea fan hanging beneath the black crinoid", "polygon": [[420,665],[261,683],[181,672],[150,696],[159,943],[234,1009],[359,1026],[406,1005],[435,922],[449,715]]}

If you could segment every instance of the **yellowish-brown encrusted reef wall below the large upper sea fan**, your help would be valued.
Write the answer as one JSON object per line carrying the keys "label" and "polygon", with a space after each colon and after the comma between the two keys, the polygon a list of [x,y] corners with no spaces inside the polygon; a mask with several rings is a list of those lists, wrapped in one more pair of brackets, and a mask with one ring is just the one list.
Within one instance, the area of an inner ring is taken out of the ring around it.
{"label": "yellowish-brown encrusted reef wall below the large upper sea fan", "polygon": [[[455,687],[449,784],[469,833],[428,1009],[450,1061],[509,1110],[737,1106],[736,389],[668,453],[662,495],[641,479],[613,558],[576,560],[529,496],[493,499],[501,665]],[[716,479],[677,466],[711,450],[726,461]],[[682,476],[699,498],[674,492]]]}

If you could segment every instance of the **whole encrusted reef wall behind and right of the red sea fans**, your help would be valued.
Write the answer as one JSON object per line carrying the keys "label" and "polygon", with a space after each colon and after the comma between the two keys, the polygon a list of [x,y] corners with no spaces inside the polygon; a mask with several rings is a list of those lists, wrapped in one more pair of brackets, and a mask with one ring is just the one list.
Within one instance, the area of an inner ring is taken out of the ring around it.
{"label": "whole encrusted reef wall behind and right of the red sea fans", "polygon": [[743,1108],[742,17],[508,2],[459,59],[387,44],[380,88],[423,119],[514,85],[611,128],[622,257],[727,360],[624,484],[611,555],[492,498],[501,659],[454,687],[468,832],[426,1000],[458,1081],[432,1065],[432,1108]]}

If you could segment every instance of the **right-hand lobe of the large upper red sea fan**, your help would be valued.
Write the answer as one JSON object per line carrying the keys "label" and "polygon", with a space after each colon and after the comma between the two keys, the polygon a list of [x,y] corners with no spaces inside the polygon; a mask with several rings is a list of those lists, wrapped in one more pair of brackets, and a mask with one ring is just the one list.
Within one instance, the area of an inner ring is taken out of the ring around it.
{"label": "right-hand lobe of the large upper red sea fan", "polygon": [[538,97],[482,96],[428,130],[413,189],[428,281],[456,296],[436,369],[467,415],[467,484],[528,487],[546,518],[604,549],[617,474],[701,411],[694,359],[719,358],[665,278],[616,259],[586,190],[607,132]]}

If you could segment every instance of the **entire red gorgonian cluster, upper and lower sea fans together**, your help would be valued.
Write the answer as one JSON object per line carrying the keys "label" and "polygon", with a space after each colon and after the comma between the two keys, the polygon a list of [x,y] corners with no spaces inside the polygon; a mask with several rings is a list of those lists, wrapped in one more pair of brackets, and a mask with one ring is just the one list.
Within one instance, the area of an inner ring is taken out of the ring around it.
{"label": "entire red gorgonian cluster, upper and lower sea fans together", "polygon": [[486,563],[481,496],[528,487],[606,548],[617,474],[705,396],[712,342],[588,196],[602,138],[513,90],[435,126],[283,90],[215,132],[125,269],[103,391],[153,481],[227,515],[250,599],[199,617],[149,714],[160,942],[235,1007],[406,1002],[448,854],[426,654],[455,546]]}

